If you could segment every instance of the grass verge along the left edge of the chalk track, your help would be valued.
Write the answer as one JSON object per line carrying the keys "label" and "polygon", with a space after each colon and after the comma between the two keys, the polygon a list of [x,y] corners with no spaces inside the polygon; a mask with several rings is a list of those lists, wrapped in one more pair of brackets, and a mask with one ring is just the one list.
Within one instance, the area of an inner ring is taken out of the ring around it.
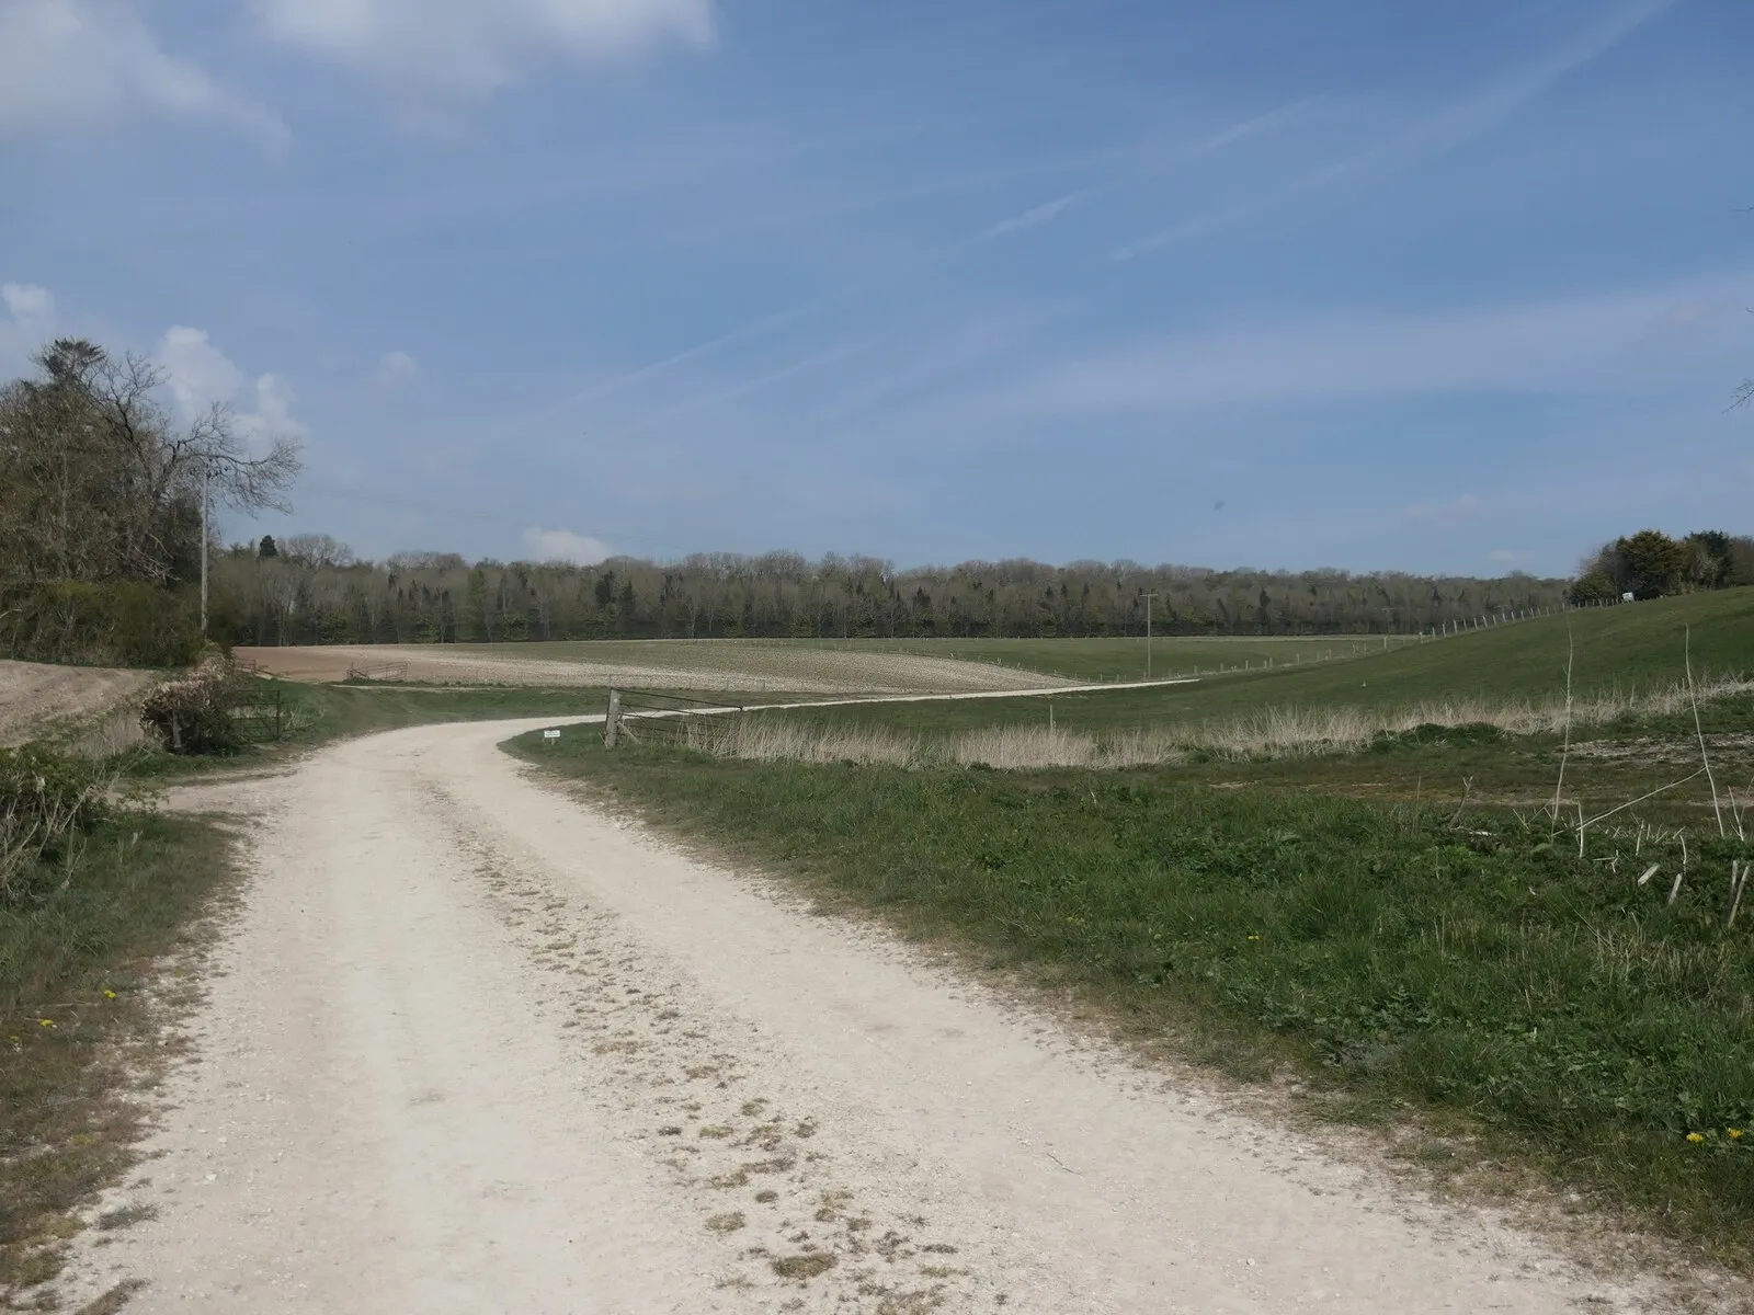
{"label": "grass verge along the left edge of the chalk track", "polygon": [[[65,863],[65,861],[63,861]],[[0,901],[0,1294],[61,1266],[74,1210],[132,1162],[118,1045],[149,1031],[135,992],[232,877],[214,826],[121,812],[28,899]],[[39,1289],[40,1290],[40,1289]]]}

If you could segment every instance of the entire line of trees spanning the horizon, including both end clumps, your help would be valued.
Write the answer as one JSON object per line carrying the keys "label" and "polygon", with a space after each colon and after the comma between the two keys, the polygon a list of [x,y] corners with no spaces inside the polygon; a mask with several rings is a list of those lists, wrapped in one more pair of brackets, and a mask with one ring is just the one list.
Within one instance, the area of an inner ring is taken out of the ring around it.
{"label": "entire line of trees spanning the horizon, including both end clumps", "polygon": [[[200,650],[202,500],[284,507],[296,444],[225,407],[177,419],[154,361],[61,338],[0,386],[0,652],[179,665]],[[210,556],[223,643],[437,643],[589,638],[973,638],[1415,633],[1566,603],[1754,584],[1754,538],[1645,530],[1575,580],[1405,572],[1265,572],[705,552],[589,566],[468,563],[451,552],[360,561],[326,535]]]}

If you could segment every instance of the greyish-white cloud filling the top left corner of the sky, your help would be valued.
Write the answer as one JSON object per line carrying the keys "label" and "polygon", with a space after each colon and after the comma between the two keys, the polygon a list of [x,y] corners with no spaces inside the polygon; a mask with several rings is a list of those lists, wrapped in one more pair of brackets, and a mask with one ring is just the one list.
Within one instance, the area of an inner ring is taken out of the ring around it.
{"label": "greyish-white cloud filling the top left corner of the sky", "polygon": [[163,49],[123,0],[0,4],[0,137],[114,123],[133,114],[232,119],[275,147],[286,126]]}

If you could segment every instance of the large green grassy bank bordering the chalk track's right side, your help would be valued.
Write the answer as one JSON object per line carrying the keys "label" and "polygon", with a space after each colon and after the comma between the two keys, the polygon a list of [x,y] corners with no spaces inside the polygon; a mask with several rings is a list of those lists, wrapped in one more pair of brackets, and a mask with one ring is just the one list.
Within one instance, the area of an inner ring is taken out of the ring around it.
{"label": "large green grassy bank bordering the chalk track's right side", "polygon": [[[1296,1073],[1312,1110],[1412,1120],[1435,1157],[1508,1154],[1745,1268],[1754,903],[1726,928],[1742,847],[1710,814],[1680,819],[1668,903],[1673,822],[1629,812],[1579,857],[1528,810],[1345,798],[1296,764],[807,766],[588,736],[519,752],[1142,1038],[1245,1078]],[[1401,778],[1445,752],[1338,761]]]}

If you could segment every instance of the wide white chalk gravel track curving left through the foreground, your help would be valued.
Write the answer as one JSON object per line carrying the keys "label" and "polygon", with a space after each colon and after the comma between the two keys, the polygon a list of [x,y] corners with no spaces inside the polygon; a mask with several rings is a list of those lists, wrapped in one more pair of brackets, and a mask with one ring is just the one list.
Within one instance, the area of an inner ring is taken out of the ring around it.
{"label": "wide white chalk gravel track curving left through the foreground", "polygon": [[1651,1308],[593,812],[538,724],[209,800],[251,877],[65,1308]]}

